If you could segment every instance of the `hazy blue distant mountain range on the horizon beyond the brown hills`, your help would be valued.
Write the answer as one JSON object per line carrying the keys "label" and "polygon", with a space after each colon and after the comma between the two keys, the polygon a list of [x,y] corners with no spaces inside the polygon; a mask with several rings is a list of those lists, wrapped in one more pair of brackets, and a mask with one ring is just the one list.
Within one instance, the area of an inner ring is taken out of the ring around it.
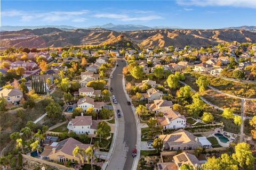
{"label": "hazy blue distant mountain range on the horizon beyond the brown hills", "polygon": [[[8,26],[3,25],[0,27],[1,31],[18,31],[23,29],[39,29],[39,28],[58,28],[63,31],[70,31],[74,29],[78,29],[77,27],[72,27],[68,25],[42,25],[42,26]],[[104,25],[94,25],[90,27],[83,27],[81,29],[91,29],[91,28],[103,28],[111,31],[139,31],[139,30],[154,30],[154,29],[173,29],[180,30],[184,29],[181,27],[170,27],[170,26],[156,26],[156,27],[148,27],[145,25],[135,25],[135,24],[118,24],[115,25],[113,23],[107,23]],[[228,28],[220,28],[220,29],[243,29],[252,32],[256,32],[256,26],[241,26],[241,27],[228,27]]]}

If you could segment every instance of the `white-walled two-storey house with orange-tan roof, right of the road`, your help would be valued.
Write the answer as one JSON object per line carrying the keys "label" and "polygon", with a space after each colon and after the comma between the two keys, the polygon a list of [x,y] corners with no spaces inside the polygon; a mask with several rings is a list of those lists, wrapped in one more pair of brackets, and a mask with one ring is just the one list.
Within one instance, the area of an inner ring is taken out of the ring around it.
{"label": "white-walled two-storey house with orange-tan roof, right of the road", "polygon": [[186,126],[185,116],[172,109],[165,112],[163,117],[157,117],[157,122],[163,129],[185,128]]}

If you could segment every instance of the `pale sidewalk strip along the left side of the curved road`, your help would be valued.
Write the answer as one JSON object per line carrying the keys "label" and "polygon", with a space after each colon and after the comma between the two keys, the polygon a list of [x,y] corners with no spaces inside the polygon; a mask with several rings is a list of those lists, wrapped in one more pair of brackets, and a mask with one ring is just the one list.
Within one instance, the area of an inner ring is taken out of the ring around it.
{"label": "pale sidewalk strip along the left side of the curved road", "polygon": [[[115,65],[114,69],[111,71],[111,73],[110,73],[110,75],[109,75],[108,90],[109,90],[109,88],[110,88],[110,82],[111,82],[110,77],[111,77],[111,75],[113,74],[113,72],[114,72],[115,70],[116,70],[116,65]],[[109,164],[109,162],[110,162],[110,160],[111,160],[111,158],[112,158],[112,154],[113,154],[113,151],[114,151],[115,146],[116,146],[117,132],[118,132],[118,126],[119,126],[119,124],[118,124],[118,118],[117,118],[117,116],[116,116],[116,114],[115,114],[116,106],[113,104],[113,101],[111,100],[111,97],[110,97],[110,102],[111,102],[111,104],[112,104],[112,106],[113,106],[113,109],[114,109],[115,130],[114,130],[114,134],[113,134],[113,139],[112,139],[112,142],[111,142],[111,146],[110,146],[110,148],[109,148],[108,155],[107,155],[107,157],[106,157],[106,161],[104,162],[104,164],[103,164],[103,166],[102,166],[102,168],[101,168],[101,169],[103,169],[103,170],[105,170],[105,169],[107,168],[107,166],[108,166],[108,164]],[[109,159],[107,159],[107,158],[109,158]]]}

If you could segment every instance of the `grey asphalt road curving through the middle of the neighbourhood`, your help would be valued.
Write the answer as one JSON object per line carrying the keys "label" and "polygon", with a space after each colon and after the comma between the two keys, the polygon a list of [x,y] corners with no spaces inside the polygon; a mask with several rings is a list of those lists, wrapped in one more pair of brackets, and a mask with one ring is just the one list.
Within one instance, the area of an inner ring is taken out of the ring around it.
{"label": "grey asphalt road curving through the middle of the neighbourhood", "polygon": [[118,118],[117,139],[113,154],[107,166],[109,170],[131,170],[134,162],[132,157],[132,149],[137,144],[137,126],[131,106],[127,105],[125,92],[123,90],[123,67],[126,62],[123,59],[118,59],[116,70],[113,72],[110,86],[113,87],[112,94],[115,95],[118,104],[117,109],[121,109],[121,118]]}

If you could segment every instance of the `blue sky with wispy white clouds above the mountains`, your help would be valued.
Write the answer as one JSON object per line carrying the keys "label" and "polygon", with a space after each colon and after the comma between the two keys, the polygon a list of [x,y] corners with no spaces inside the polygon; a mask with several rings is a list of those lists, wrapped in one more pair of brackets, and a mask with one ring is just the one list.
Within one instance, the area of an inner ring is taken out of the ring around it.
{"label": "blue sky with wispy white clouds above the mountains", "polygon": [[1,25],[106,23],[200,29],[256,25],[256,1],[1,1]]}

